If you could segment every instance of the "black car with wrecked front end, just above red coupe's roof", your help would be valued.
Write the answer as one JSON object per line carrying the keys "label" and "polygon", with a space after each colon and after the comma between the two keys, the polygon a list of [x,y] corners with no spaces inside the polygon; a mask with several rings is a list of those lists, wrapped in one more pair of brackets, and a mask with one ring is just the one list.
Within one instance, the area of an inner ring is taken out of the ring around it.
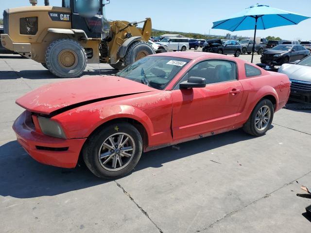
{"label": "black car with wrecked front end, just above red coupe's roof", "polygon": [[241,45],[235,40],[210,39],[204,43],[202,51],[216,52],[219,54],[234,54],[235,57],[240,56],[242,49]]}

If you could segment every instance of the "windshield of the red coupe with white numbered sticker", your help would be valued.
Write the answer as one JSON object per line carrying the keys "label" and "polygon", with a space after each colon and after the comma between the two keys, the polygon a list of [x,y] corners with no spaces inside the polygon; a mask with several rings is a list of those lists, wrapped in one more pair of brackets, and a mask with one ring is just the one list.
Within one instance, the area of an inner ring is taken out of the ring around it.
{"label": "windshield of the red coupe with white numbered sticker", "polygon": [[166,56],[144,57],[117,73],[125,79],[163,90],[190,59]]}

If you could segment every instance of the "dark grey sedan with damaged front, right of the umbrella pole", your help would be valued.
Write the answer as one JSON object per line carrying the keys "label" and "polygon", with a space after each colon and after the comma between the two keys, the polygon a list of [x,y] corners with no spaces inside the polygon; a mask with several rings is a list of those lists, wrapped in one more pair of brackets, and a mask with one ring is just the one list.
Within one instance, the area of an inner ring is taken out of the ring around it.
{"label": "dark grey sedan with damaged front, right of the umbrella pole", "polygon": [[270,50],[264,50],[260,61],[264,64],[282,65],[301,60],[309,54],[310,51],[301,45],[277,45]]}

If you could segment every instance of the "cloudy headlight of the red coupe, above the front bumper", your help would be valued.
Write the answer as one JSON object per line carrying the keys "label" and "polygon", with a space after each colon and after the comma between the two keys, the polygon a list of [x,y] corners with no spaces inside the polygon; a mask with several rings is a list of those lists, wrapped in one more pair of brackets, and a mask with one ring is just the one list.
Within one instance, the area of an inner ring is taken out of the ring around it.
{"label": "cloudy headlight of the red coupe, above the front bumper", "polygon": [[62,127],[56,121],[42,116],[38,116],[37,118],[43,134],[52,137],[66,138]]}

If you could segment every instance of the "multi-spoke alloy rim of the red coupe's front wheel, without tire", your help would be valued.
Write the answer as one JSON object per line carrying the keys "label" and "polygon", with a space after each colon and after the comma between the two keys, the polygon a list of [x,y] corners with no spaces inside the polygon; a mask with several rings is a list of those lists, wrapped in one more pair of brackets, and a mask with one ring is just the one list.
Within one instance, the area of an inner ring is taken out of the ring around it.
{"label": "multi-spoke alloy rim of the red coupe's front wheel, without tire", "polygon": [[132,161],[134,154],[134,139],[127,133],[114,133],[104,140],[98,159],[104,169],[118,171]]}

